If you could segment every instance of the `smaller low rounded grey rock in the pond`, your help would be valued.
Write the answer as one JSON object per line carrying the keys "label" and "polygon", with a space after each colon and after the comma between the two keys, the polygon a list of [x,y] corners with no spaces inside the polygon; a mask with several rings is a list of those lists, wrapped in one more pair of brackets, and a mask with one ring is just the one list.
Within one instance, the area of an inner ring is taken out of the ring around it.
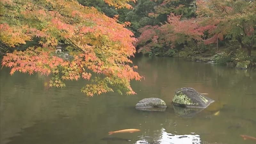
{"label": "smaller low rounded grey rock in the pond", "polygon": [[135,108],[147,111],[165,111],[166,103],[159,98],[145,98],[140,100]]}

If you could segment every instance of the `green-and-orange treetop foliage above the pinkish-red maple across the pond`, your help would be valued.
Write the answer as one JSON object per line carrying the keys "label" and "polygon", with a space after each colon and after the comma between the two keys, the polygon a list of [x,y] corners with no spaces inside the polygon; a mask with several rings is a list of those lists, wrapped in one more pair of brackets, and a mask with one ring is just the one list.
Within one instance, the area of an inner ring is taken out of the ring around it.
{"label": "green-and-orange treetop foliage above the pinkish-red maple across the pond", "polygon": [[183,17],[195,15],[196,5],[193,0],[139,0],[132,11],[121,13],[123,19],[131,22],[131,29],[136,37],[140,37],[140,28],[156,26],[164,23],[172,12]]}

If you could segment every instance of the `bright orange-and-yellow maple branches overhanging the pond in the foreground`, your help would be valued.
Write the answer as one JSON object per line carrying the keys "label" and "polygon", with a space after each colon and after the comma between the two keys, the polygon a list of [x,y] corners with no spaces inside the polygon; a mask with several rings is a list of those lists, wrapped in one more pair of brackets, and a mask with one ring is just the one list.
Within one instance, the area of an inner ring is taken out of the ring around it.
{"label": "bright orange-and-yellow maple branches overhanging the pond in the foreground", "polygon": [[[135,0],[105,0],[116,8],[132,8]],[[65,80],[85,79],[87,96],[116,91],[136,94],[130,85],[140,80],[137,66],[129,57],[136,52],[133,33],[94,7],[76,0],[1,0],[0,41],[6,47],[20,46],[38,39],[39,46],[14,50],[2,59],[2,66],[14,72],[52,75],[49,86],[65,87]],[[55,54],[59,42],[68,45],[72,60]]]}

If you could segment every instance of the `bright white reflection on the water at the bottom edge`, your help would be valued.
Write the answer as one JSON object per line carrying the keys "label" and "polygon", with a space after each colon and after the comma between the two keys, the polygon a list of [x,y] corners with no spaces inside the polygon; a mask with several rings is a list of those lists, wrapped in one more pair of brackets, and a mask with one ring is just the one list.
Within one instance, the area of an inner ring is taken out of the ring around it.
{"label": "bright white reflection on the water at the bottom edge", "polygon": [[141,140],[136,141],[135,144],[201,144],[199,135],[176,135],[165,132],[165,129],[161,129],[161,136],[159,140],[153,140],[148,136],[141,136]]}

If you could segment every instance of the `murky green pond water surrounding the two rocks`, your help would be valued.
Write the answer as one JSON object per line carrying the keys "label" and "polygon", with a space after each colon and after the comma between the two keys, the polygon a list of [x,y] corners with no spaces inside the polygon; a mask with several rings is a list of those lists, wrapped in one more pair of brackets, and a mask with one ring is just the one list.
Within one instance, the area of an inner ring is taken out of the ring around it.
{"label": "murky green pond water surrounding the two rocks", "polygon": [[[256,142],[240,136],[256,137],[255,70],[164,57],[141,56],[133,63],[145,80],[132,81],[137,95],[129,96],[107,93],[86,97],[80,92],[84,81],[67,82],[64,89],[48,88],[40,75],[10,76],[8,68],[1,69],[0,143],[170,143],[161,142],[166,133],[197,135],[207,143]],[[179,115],[171,102],[175,90],[182,87],[208,93],[205,96],[215,104],[193,116]],[[166,110],[134,108],[139,100],[150,97],[163,99]],[[129,128],[141,131],[108,135],[109,131]]]}

